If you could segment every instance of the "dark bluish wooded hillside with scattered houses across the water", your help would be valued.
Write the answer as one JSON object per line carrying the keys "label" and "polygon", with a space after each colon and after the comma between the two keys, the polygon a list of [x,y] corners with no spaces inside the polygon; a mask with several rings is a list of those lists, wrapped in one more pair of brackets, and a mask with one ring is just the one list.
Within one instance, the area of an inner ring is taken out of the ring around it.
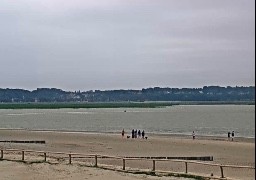
{"label": "dark bluish wooded hillside with scattered houses across the water", "polygon": [[56,88],[1,89],[0,102],[255,101],[255,86],[63,91]]}

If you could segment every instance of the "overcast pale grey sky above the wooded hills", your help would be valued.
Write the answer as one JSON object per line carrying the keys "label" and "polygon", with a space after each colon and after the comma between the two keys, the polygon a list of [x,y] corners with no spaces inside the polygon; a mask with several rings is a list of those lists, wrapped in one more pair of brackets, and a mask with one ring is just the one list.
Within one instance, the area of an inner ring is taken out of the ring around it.
{"label": "overcast pale grey sky above the wooded hills", "polygon": [[0,88],[255,85],[254,0],[1,0]]}

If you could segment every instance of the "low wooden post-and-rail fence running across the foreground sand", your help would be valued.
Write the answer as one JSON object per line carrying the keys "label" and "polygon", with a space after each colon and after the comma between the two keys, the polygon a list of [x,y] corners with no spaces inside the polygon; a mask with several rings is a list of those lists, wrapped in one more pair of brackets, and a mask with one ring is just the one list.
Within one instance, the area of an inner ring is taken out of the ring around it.
{"label": "low wooden post-and-rail fence running across the foreground sand", "polygon": [[[1,156],[0,160],[12,160],[10,158],[5,158],[4,157],[4,151],[6,151],[6,155],[8,154],[7,152],[18,152],[21,154],[21,158],[18,159],[19,161],[25,161],[25,153],[35,153],[35,154],[41,154],[43,159],[41,160],[42,162],[47,162],[47,157],[50,158],[50,154],[53,155],[63,155],[68,159],[68,164],[72,164],[72,158],[90,158],[94,159],[94,165],[95,167],[98,167],[98,159],[115,159],[115,160],[120,160],[122,162],[122,171],[126,171],[126,163],[127,161],[152,161],[152,169],[151,173],[171,173],[170,171],[161,171],[161,170],[156,170],[156,162],[179,162],[179,163],[184,163],[184,173],[188,174],[188,165],[189,164],[200,164],[204,166],[215,166],[219,167],[220,169],[220,177],[215,177],[217,179],[223,179],[225,178],[224,175],[224,168],[245,168],[245,169],[254,169],[255,167],[253,166],[236,166],[236,165],[223,165],[223,164],[214,164],[214,163],[206,163],[206,162],[199,162],[199,161],[191,161],[191,160],[179,160],[179,159],[168,159],[167,157],[165,159],[155,159],[151,157],[143,157],[143,158],[134,158],[134,157],[121,157],[121,156],[109,156],[109,155],[99,155],[99,154],[81,154],[81,153],[65,153],[65,152],[50,152],[50,151],[34,151],[34,150],[20,150],[20,149],[1,149]],[[16,159],[17,160],[17,159]],[[108,164],[101,164],[101,165],[108,165]],[[176,172],[179,174],[179,172]],[[209,177],[209,176],[204,176],[204,177]],[[210,177],[214,178],[214,177]]]}

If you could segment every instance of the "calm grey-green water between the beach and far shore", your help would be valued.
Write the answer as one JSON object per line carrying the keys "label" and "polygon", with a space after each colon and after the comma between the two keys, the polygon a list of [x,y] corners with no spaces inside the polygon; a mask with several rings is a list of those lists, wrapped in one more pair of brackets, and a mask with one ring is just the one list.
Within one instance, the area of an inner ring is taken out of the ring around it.
{"label": "calm grey-green water between the beach and far shore", "polygon": [[184,105],[167,108],[0,110],[0,128],[196,134],[255,137],[254,105]]}

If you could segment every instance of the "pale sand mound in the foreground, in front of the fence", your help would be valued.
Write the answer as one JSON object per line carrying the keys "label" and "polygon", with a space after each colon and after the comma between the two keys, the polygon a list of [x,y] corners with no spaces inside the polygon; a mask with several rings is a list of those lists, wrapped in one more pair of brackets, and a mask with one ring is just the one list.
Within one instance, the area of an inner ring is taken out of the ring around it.
{"label": "pale sand mound in the foreground, in front of the fence", "polygon": [[48,163],[24,164],[19,162],[0,162],[1,180],[45,180],[45,179],[90,179],[90,180],[189,180],[188,178],[156,177],[149,175],[134,175],[116,171],[103,170],[77,165],[50,165]]}

